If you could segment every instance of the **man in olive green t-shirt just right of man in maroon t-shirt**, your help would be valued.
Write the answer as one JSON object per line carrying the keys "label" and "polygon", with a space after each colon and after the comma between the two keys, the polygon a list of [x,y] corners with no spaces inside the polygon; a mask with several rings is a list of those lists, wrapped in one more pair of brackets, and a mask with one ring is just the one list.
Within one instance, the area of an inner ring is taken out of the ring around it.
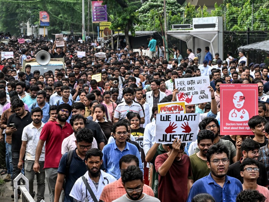
{"label": "man in olive green t-shirt just right of man in maroon t-shirt", "polygon": [[206,153],[208,148],[213,145],[214,133],[210,130],[201,130],[197,135],[197,145],[200,149],[199,152],[190,155],[190,165],[193,176],[189,177],[190,183],[207,176],[210,173],[206,162]]}

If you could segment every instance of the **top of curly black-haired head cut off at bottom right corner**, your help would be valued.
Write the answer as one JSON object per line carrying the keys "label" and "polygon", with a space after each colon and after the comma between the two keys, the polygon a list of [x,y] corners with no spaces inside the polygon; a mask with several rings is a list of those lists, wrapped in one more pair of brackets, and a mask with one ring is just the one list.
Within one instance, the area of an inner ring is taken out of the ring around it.
{"label": "top of curly black-haired head cut off at bottom right corner", "polygon": [[264,202],[266,197],[257,190],[245,189],[237,196],[235,202]]}

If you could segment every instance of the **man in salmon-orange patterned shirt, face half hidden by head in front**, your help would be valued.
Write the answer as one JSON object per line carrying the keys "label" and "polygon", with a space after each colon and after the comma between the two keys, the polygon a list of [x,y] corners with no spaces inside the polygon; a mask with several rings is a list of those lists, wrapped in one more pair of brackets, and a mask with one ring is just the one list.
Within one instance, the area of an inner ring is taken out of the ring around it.
{"label": "man in salmon-orange patterned shirt, face half hidden by head in front", "polygon": [[[121,157],[120,159],[120,172],[127,169],[128,166],[139,166],[138,158],[135,155],[127,154]],[[146,193],[149,196],[154,197],[153,190],[148,186],[143,186],[143,193]],[[106,185],[101,193],[99,202],[112,202],[126,194],[126,190],[122,185],[121,178],[117,181],[114,181],[108,185]]]}

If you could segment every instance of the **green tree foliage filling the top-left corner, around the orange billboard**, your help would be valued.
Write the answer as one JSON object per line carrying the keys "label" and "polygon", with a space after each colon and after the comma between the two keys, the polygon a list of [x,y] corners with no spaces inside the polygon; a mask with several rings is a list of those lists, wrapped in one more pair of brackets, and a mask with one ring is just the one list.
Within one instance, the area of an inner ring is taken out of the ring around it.
{"label": "green tree foliage filling the top-left corner, around the orange billboard", "polygon": [[[29,21],[30,25],[39,25],[39,11],[46,11],[50,14],[50,26],[46,27],[49,33],[70,30],[76,32],[82,29],[82,0],[6,0],[0,2],[0,30],[2,32],[18,35],[21,22]],[[87,6],[85,6],[85,13],[87,13]]]}

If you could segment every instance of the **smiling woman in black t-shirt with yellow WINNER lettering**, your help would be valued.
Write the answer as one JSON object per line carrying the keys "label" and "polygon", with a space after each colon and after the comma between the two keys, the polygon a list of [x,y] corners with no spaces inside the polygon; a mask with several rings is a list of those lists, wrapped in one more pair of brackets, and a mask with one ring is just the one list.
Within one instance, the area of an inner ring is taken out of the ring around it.
{"label": "smiling woman in black t-shirt with yellow WINNER lettering", "polygon": [[139,126],[141,122],[140,115],[138,113],[130,111],[126,114],[126,117],[131,123],[131,134],[134,137],[144,136],[145,128]]}

